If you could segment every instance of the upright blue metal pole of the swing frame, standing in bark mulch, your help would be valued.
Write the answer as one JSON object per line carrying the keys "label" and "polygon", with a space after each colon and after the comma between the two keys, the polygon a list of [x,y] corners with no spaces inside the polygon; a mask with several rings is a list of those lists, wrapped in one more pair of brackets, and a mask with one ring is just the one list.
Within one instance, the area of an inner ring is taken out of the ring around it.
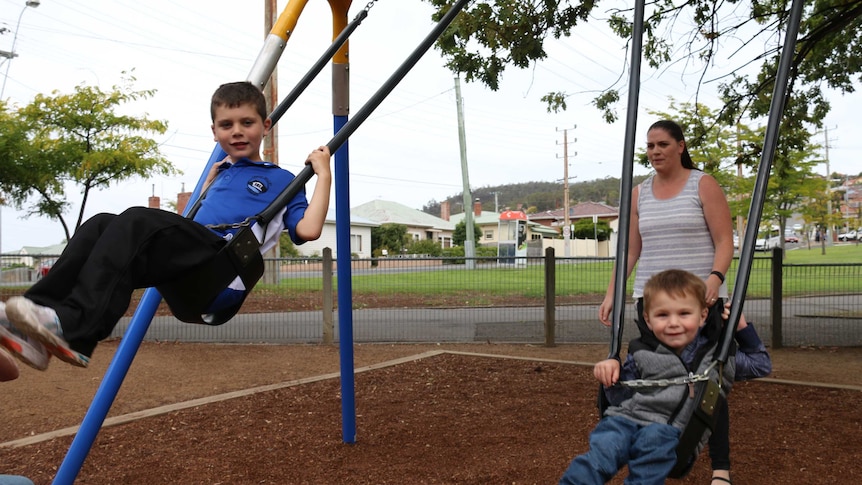
{"label": "upright blue metal pole of the swing frame, standing in bark mulch", "polygon": [[[334,116],[335,132],[347,116]],[[341,435],[356,442],[356,390],[353,364],[353,284],[350,270],[350,151],[345,141],[335,152],[335,243],[338,251],[338,348],[341,369]]]}

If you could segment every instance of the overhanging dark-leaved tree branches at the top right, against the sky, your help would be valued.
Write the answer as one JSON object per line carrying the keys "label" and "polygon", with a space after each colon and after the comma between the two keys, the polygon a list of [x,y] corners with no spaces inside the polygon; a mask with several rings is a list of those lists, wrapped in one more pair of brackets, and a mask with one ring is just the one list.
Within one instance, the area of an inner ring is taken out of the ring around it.
{"label": "overhanging dark-leaved tree branches at the top right, against the sky", "polygon": [[[436,18],[450,4],[449,0],[426,1],[438,8]],[[633,8],[618,5],[593,0],[479,0],[461,12],[437,48],[446,57],[447,67],[462,73],[467,82],[480,81],[496,90],[507,67],[529,68],[545,59],[545,43],[550,38],[567,37],[580,24],[602,21],[596,12],[610,12],[604,21],[630,41]],[[698,89],[705,81],[720,81],[718,91],[725,105],[719,118],[724,125],[732,126],[744,117],[757,119],[768,112],[782,47],[779,34],[790,16],[790,2],[762,0],[742,5],[658,0],[649,3],[645,15],[643,55],[649,67],[684,66],[686,73],[697,75]],[[819,126],[829,111],[824,87],[842,93],[855,91],[862,73],[860,36],[862,0],[805,3],[789,84],[793,96],[807,106],[806,120]],[[719,59],[736,64],[725,67],[725,63],[715,62]],[[752,69],[757,72],[749,75]],[[567,88],[561,86],[543,97],[549,110],[567,108]],[[594,99],[609,122],[617,118],[618,89],[608,86]]]}

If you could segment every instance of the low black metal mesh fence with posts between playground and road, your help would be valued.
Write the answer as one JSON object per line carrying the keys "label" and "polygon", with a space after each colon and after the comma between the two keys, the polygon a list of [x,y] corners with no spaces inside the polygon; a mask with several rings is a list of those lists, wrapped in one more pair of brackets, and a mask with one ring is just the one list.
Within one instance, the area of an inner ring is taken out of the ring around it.
{"label": "low black metal mesh fence with posts between playground and road", "polygon": [[[430,257],[353,260],[352,312],[341,321],[332,303],[335,262],[268,260],[264,280],[230,322],[208,327],[156,316],[147,339],[320,343],[337,341],[339,326],[350,324],[354,341],[365,343],[608,342],[610,331],[597,315],[611,259],[557,258],[551,252],[464,263]],[[736,263],[727,275],[731,291]],[[37,278],[32,267],[4,269],[0,299],[20,294]],[[862,263],[788,265],[780,251],[758,256],[744,313],[773,347],[862,345]],[[629,302],[626,339],[634,336],[634,316]],[[129,320],[122,319],[113,336],[121,337]]]}

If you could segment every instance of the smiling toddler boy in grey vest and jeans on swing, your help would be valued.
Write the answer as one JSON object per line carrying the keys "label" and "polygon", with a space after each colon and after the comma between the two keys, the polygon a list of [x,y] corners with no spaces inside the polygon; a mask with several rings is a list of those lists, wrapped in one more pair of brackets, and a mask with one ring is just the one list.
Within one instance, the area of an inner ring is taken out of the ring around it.
{"label": "smiling toddler boy in grey vest and jeans on swing", "polygon": [[[636,388],[616,384],[703,373],[713,360],[720,329],[704,325],[709,312],[706,285],[687,271],[655,274],[644,286],[643,302],[647,331],[629,344],[625,364],[607,359],[593,368],[610,406],[590,433],[589,451],[572,460],[560,484],[604,484],[628,465],[625,483],[658,485],[665,483],[676,464],[681,432],[696,404],[694,388],[691,384]],[[729,307],[728,302],[722,315],[725,320]],[[727,389],[735,367],[737,380],[771,371],[766,347],[744,316],[735,338],[740,352],[724,366]]]}

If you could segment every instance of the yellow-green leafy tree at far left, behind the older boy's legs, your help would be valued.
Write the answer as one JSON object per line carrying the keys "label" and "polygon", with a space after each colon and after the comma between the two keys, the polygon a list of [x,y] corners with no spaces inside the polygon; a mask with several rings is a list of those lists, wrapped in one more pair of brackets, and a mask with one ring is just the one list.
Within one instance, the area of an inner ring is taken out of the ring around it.
{"label": "yellow-green leafy tree at far left, behind the older boy's legs", "polygon": [[[133,81],[108,92],[81,85],[71,94],[39,94],[18,109],[0,104],[3,202],[59,221],[68,240],[93,191],[133,177],[177,173],[148,138],[165,133],[167,124],[120,113],[122,105],[155,93],[133,91]],[[79,192],[80,209],[69,224],[70,199]]]}

